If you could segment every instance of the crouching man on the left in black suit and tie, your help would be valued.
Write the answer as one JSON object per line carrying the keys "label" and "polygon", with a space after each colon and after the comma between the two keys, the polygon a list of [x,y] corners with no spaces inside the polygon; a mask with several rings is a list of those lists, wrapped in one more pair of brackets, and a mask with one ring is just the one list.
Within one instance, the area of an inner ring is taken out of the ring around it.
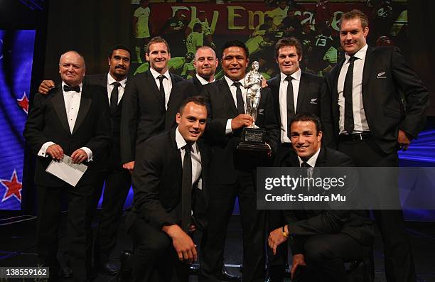
{"label": "crouching man on the left in black suit and tie", "polygon": [[206,121],[204,98],[190,97],[175,129],[137,146],[134,207],[126,222],[134,244],[132,281],[188,281],[198,256],[190,235],[205,224],[208,153],[197,141]]}

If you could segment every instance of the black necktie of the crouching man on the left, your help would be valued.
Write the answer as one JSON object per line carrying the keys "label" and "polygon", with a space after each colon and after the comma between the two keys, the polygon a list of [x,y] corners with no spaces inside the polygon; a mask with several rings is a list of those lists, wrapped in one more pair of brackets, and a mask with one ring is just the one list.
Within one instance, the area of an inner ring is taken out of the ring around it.
{"label": "black necktie of the crouching man on the left", "polygon": [[192,158],[191,144],[183,147],[183,180],[181,183],[181,228],[187,233],[190,229],[192,215]]}

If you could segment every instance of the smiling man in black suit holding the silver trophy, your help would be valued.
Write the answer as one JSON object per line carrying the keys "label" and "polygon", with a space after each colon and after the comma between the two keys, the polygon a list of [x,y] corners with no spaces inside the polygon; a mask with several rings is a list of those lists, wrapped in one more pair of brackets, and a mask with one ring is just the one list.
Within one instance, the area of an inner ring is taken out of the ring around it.
{"label": "smiling man in black suit holding the silver trophy", "polygon": [[[200,281],[222,277],[227,224],[238,197],[243,230],[243,281],[264,281],[265,212],[257,210],[256,168],[268,166],[279,141],[272,97],[261,89],[258,65],[246,75],[248,50],[239,40],[222,46],[225,76],[205,85],[208,107],[205,139],[210,143],[209,225],[201,246]],[[252,128],[255,126],[257,128]]]}

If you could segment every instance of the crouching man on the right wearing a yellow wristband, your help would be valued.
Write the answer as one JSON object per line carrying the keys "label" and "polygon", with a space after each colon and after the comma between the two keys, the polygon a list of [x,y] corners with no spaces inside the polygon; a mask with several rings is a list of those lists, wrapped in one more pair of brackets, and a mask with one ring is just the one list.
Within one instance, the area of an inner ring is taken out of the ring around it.
{"label": "crouching man on the right wearing a yellow wristband", "polygon": [[[344,153],[321,146],[316,115],[296,114],[290,134],[297,156],[288,153],[281,166],[354,166]],[[268,243],[275,253],[289,239],[292,281],[348,281],[344,263],[361,261],[372,245],[372,222],[363,210],[285,210],[284,215],[287,224],[270,232]]]}

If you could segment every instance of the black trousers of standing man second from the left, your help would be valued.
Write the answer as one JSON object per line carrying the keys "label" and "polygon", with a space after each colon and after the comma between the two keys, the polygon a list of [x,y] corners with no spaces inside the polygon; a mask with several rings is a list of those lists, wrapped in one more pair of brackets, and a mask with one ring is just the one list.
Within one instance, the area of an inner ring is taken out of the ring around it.
{"label": "black trousers of standing man second from the left", "polygon": [[[124,202],[131,187],[131,174],[120,165],[113,165],[107,173],[104,185],[100,222],[95,241],[95,265],[106,264],[117,244],[119,223],[121,222]],[[100,192],[96,201],[100,200]]]}

